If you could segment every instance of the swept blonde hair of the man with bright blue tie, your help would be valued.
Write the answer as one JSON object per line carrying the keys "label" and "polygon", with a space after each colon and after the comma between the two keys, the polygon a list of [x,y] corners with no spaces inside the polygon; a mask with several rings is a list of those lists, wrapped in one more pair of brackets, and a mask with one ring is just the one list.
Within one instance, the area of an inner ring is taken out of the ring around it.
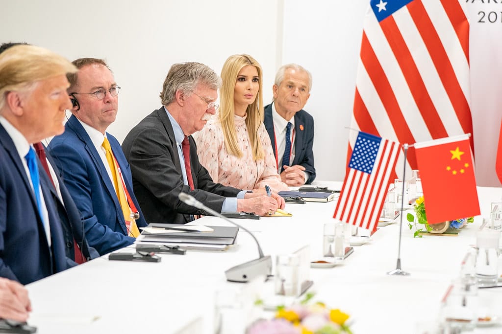
{"label": "swept blonde hair of the man with bright blue tie", "polygon": [[18,45],[0,55],[0,109],[12,91],[29,91],[42,80],[75,73],[77,68],[67,59],[47,49]]}

